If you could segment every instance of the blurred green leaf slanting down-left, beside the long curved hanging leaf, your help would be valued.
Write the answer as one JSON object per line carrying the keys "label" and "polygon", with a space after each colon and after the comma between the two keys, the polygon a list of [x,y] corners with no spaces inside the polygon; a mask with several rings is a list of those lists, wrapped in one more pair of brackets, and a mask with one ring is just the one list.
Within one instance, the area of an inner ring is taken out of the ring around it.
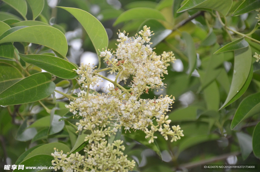
{"label": "blurred green leaf slanting down-left, beside the long curved hanging leaf", "polygon": [[223,68],[220,66],[224,62],[224,53],[221,54],[213,54],[218,49],[219,45],[215,44],[213,49],[211,50],[211,56],[206,68],[205,75],[201,77],[202,79],[202,84],[201,84],[201,89],[203,90],[205,87],[207,87],[212,81],[214,81],[220,72],[222,71]]}

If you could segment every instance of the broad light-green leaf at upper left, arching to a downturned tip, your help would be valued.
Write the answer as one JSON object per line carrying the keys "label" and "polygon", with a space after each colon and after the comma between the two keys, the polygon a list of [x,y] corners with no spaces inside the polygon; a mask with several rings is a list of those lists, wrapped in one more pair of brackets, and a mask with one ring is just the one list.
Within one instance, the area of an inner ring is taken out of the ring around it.
{"label": "broad light-green leaf at upper left, arching to a downturned tip", "polygon": [[53,49],[63,57],[66,56],[68,44],[65,35],[51,26],[18,26],[0,36],[0,44],[5,42],[31,42]]}

